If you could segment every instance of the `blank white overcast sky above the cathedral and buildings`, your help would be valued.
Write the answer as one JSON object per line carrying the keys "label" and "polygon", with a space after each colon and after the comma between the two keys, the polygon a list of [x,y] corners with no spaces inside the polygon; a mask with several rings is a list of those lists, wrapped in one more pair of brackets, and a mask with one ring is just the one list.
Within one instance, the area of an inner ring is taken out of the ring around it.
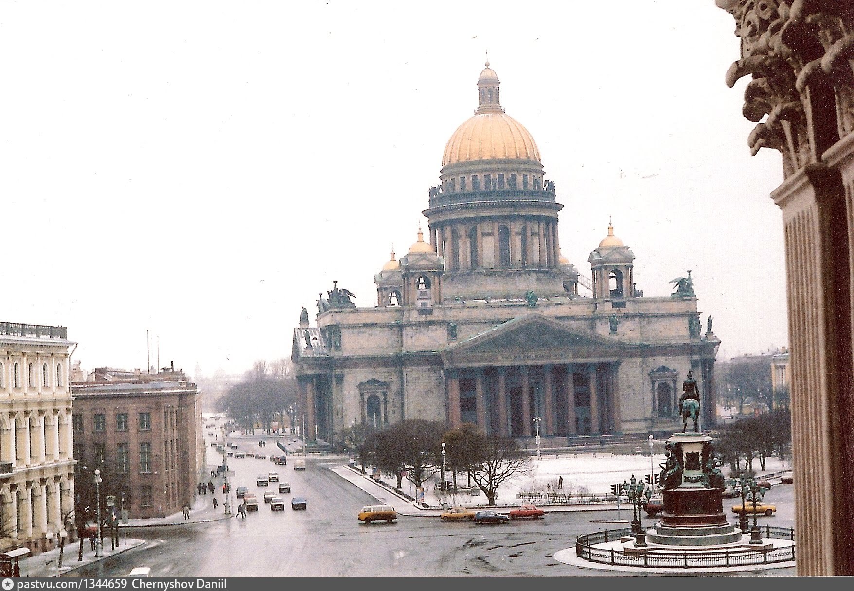
{"label": "blank white overcast sky above the cathedral and buildings", "polygon": [[146,330],[192,374],[290,357],[301,306],[374,305],[426,227],[486,50],[583,274],[611,215],[646,296],[693,271],[719,359],[787,343],[780,155],[713,0],[0,0],[0,320],[66,325],[87,370],[144,367]]}

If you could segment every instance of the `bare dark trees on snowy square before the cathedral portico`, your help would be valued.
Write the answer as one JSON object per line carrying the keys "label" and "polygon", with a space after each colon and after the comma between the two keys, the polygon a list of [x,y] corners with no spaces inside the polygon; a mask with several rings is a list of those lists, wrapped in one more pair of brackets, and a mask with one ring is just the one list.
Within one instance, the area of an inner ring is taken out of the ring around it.
{"label": "bare dark trees on snowy square before the cathedral portico", "polygon": [[471,424],[447,430],[442,422],[407,419],[383,430],[354,425],[344,436],[344,445],[356,454],[363,471],[365,465],[377,467],[397,479],[398,489],[403,488],[404,477],[422,488],[442,470],[443,442],[445,470],[454,485],[457,475],[465,474],[487,496],[489,505],[495,504],[502,483],[531,470],[529,456],[515,440],[484,436]]}

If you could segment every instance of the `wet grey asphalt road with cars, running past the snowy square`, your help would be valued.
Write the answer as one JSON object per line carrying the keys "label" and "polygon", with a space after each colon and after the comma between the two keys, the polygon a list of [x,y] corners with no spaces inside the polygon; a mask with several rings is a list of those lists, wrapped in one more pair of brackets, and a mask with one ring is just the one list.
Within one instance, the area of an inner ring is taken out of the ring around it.
{"label": "wet grey asphalt road with cars, running past the snowy square", "polygon": [[[647,576],[583,569],[553,559],[553,553],[574,544],[576,535],[618,527],[590,523],[616,518],[614,511],[549,513],[543,519],[500,525],[406,516],[395,524],[365,525],[356,515],[376,500],[327,469],[341,460],[309,458],[306,471],[294,471],[292,460],[275,466],[269,459],[230,459],[237,472],[232,489],[246,486],[259,499],[259,511],[247,518],[131,530],[132,537],[148,543],[67,576],[124,576],[135,566],[149,566],[151,576]],[[292,492],[281,495],[284,512],[272,512],[262,500],[275,483],[254,484],[256,474],[268,471],[278,471],[291,484]],[[787,517],[792,488],[781,485],[769,491],[766,500],[781,507],[778,516],[761,517],[759,524],[792,526],[793,516]],[[306,511],[290,509],[294,495],[307,497]],[[734,504],[728,501],[725,509]],[[630,514],[623,509],[623,518]],[[794,569],[762,574],[793,576]]]}

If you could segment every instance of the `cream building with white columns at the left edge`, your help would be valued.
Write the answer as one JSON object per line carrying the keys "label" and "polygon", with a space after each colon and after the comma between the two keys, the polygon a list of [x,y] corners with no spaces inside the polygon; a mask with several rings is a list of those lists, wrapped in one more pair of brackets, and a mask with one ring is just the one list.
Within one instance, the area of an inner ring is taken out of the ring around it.
{"label": "cream building with white columns at the left edge", "polygon": [[0,322],[0,551],[56,546],[73,512],[72,346],[65,326]]}

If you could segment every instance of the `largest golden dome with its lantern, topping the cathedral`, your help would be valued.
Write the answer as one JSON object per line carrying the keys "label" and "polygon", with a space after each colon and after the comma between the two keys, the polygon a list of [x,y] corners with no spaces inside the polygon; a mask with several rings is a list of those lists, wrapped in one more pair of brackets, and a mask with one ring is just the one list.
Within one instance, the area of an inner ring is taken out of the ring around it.
{"label": "largest golden dome with its lantern, topping the cathedral", "polygon": [[479,160],[540,161],[534,138],[501,108],[499,85],[498,76],[487,61],[477,79],[477,111],[447,140],[443,167]]}

